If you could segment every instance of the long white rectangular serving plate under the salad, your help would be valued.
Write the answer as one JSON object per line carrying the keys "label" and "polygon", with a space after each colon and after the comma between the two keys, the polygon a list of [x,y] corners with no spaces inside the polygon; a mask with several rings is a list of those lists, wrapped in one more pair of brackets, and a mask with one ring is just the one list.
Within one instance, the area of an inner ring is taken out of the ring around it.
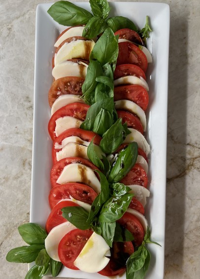
{"label": "long white rectangular serving plate under the salad", "polygon": [[[89,3],[76,2],[90,10]],[[145,217],[151,230],[151,239],[162,247],[149,244],[151,261],[146,279],[164,277],[165,210],[166,210],[166,149],[167,149],[167,86],[169,50],[169,6],[164,3],[110,2],[110,16],[120,15],[131,19],[140,29],[150,17],[153,32],[147,39],[153,63],[146,72],[149,85],[149,106],[146,111],[146,139],[150,144],[149,190]],[[53,81],[51,61],[57,36],[66,27],[56,23],[47,13],[51,4],[39,4],[36,10],[34,112],[33,112],[33,166],[30,222],[45,226],[50,213],[48,195],[51,188],[52,140],[47,125],[50,119],[48,90]],[[64,268],[59,277],[105,279],[100,274],[88,274]],[[116,277],[125,279],[123,277]]]}

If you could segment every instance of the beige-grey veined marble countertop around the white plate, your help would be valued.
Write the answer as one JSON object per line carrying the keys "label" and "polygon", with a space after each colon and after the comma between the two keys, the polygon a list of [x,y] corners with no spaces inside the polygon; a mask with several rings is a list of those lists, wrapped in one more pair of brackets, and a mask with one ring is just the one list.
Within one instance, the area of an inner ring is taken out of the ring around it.
{"label": "beige-grey veined marble countertop around the white plate", "polygon": [[[24,245],[17,227],[30,217],[35,9],[41,2],[52,0],[0,3],[2,279],[27,273],[26,264],[8,263],[5,255]],[[170,5],[165,279],[199,279],[200,1],[157,2]]]}

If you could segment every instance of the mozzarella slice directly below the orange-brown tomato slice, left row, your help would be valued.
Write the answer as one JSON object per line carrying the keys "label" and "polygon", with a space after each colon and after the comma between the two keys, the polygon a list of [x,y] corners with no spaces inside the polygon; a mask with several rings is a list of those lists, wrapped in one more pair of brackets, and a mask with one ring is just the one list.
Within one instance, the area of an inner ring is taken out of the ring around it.
{"label": "mozzarella slice directly below the orange-brown tomato slice, left row", "polygon": [[59,108],[71,103],[85,103],[80,99],[80,95],[66,94],[59,96],[51,107],[51,115],[54,114]]}

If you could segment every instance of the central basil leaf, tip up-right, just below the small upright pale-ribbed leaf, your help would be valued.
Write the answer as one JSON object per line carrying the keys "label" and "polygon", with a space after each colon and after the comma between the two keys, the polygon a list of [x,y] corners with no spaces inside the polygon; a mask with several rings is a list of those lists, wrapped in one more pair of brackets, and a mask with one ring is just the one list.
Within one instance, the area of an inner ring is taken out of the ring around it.
{"label": "central basil leaf, tip up-right, just below the small upright pale-ribbed leaf", "polygon": [[125,139],[122,119],[119,118],[104,134],[100,141],[103,152],[110,154],[114,152]]}

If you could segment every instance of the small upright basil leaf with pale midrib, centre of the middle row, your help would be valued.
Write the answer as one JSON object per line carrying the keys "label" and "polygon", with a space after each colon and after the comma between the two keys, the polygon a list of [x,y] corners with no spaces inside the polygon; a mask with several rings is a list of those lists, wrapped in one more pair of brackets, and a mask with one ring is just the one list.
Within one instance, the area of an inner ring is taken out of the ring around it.
{"label": "small upright basil leaf with pale midrib, centre of the middle row", "polygon": [[[113,118],[110,112],[101,108],[100,112],[95,118],[93,132],[102,136],[110,128],[112,122],[113,122]],[[101,169],[103,170],[103,168]]]}

